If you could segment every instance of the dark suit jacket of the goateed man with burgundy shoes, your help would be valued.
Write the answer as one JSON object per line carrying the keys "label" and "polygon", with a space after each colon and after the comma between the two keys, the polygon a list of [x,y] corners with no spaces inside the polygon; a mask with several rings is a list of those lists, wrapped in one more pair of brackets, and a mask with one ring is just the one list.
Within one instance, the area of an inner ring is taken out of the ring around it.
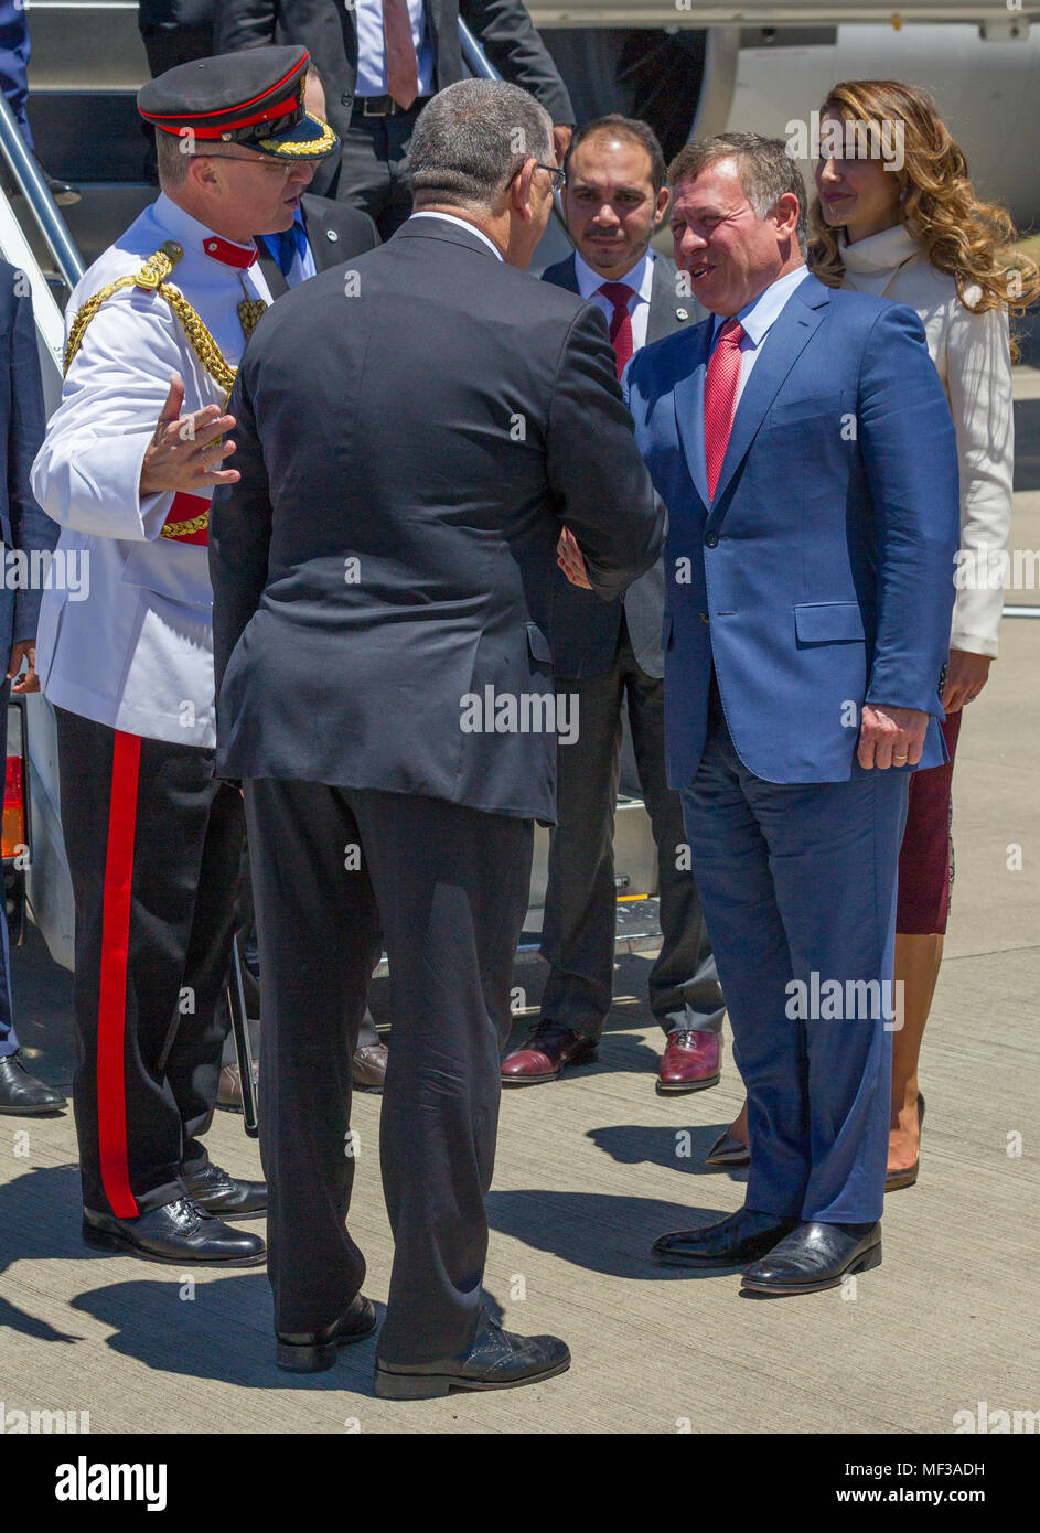
{"label": "dark suit jacket of the goateed man with burgundy shoes", "polygon": [[[699,323],[704,308],[695,297],[676,297],[676,267],[669,256],[655,251],[653,285],[650,288],[650,313],[647,314],[646,342]],[[543,282],[578,291],[574,256],[546,267]],[[586,452],[591,451],[586,446]],[[561,570],[555,575],[552,664],[557,676],[592,678],[606,676],[614,664],[618,647],[621,612],[624,610],[629,638],[635,658],[647,676],[664,675],[664,652],[661,650],[661,622],[664,618],[664,566],[658,561],[652,570],[624,593],[620,601],[604,604],[572,586]]]}

